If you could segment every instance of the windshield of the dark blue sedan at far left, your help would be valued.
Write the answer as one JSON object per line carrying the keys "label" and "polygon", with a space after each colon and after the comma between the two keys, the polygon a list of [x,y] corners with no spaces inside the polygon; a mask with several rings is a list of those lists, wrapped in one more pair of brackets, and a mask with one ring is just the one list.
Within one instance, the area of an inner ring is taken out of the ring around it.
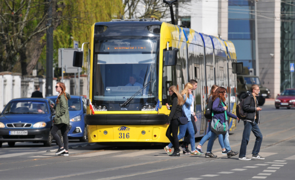
{"label": "windshield of the dark blue sedan at far left", "polygon": [[40,101],[13,101],[3,110],[3,114],[47,114],[46,102]]}

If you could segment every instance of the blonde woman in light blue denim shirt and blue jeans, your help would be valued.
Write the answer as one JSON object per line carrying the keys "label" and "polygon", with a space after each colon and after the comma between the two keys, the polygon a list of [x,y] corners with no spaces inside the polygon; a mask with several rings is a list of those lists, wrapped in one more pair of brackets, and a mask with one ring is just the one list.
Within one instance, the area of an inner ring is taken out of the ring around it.
{"label": "blonde woman in light blue denim shirt and blue jeans", "polygon": [[[188,82],[185,84],[184,89],[181,91],[181,95],[183,96],[183,99],[184,99],[184,104],[182,105],[182,109],[184,111],[187,121],[182,123],[180,122],[181,124],[179,124],[179,134],[177,136],[177,139],[178,140],[182,139],[185,135],[186,130],[188,130],[190,134],[190,143],[191,143],[191,149],[192,149],[191,155],[201,155],[201,153],[198,153],[195,148],[195,130],[194,130],[193,124],[189,122],[191,121],[191,118],[187,118],[187,117],[190,117],[191,115],[190,106],[193,102],[192,88],[193,88],[193,85],[190,82]],[[181,116],[178,116],[177,118],[179,119],[179,117]],[[166,136],[167,136],[167,133],[166,133]],[[170,143],[168,147],[167,146],[165,147],[166,152],[167,152],[167,148],[171,148],[172,145],[173,144]],[[179,149],[179,147],[177,147],[177,149]]]}

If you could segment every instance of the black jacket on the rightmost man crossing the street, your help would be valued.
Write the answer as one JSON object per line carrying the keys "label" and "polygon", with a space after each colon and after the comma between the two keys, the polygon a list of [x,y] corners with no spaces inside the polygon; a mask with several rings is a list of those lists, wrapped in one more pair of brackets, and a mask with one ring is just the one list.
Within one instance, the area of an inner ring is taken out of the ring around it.
{"label": "black jacket on the rightmost man crossing the street", "polygon": [[247,116],[246,119],[244,121],[250,121],[252,123],[254,123],[254,121],[259,124],[260,122],[260,111],[258,111],[256,119],[255,118],[255,113],[256,113],[256,108],[258,108],[258,101],[256,98],[256,105],[255,105],[255,101],[254,101],[254,96],[252,95],[251,92],[246,92],[245,96],[244,96],[244,106],[243,106],[243,110],[245,112],[247,112]]}

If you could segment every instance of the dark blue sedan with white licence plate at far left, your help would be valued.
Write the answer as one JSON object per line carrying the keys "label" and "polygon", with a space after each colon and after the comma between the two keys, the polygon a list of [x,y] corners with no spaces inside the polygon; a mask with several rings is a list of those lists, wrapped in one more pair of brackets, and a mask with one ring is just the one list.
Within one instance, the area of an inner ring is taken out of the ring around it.
{"label": "dark blue sedan with white licence plate at far left", "polygon": [[51,146],[50,133],[55,110],[50,99],[20,98],[11,100],[0,114],[0,147],[7,142],[43,142]]}

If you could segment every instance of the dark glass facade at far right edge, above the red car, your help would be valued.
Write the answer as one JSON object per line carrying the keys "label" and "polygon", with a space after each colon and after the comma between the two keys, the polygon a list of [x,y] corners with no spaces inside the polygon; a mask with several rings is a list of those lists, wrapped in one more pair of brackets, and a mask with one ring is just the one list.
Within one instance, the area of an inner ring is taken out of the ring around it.
{"label": "dark glass facade at far right edge, above the red car", "polygon": [[[284,3],[286,2],[286,3]],[[295,1],[281,2],[281,92],[291,87],[290,63],[295,63]]]}

